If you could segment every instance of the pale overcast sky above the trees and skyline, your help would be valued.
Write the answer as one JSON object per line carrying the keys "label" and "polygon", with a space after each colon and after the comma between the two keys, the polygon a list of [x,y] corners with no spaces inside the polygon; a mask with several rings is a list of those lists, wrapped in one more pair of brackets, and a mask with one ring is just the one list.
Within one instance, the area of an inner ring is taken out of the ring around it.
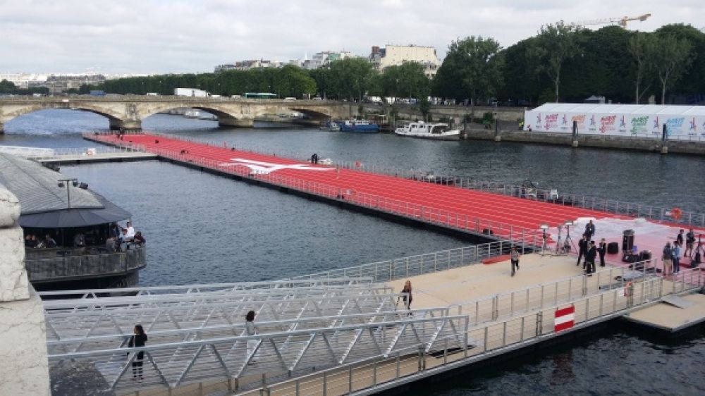
{"label": "pale overcast sky above the trees and skyline", "polygon": [[385,44],[443,58],[470,35],[508,47],[547,23],[644,13],[630,30],[705,27],[702,0],[0,0],[0,73],[197,73]]}

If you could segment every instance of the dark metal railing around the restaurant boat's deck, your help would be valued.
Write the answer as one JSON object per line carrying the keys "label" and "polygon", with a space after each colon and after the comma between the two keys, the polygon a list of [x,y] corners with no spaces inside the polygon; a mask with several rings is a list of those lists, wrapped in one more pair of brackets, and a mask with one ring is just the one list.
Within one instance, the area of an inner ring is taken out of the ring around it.
{"label": "dark metal railing around the restaurant boat's deck", "polygon": [[142,246],[125,252],[30,258],[25,259],[25,268],[32,283],[119,275],[144,268],[146,250],[147,247]]}

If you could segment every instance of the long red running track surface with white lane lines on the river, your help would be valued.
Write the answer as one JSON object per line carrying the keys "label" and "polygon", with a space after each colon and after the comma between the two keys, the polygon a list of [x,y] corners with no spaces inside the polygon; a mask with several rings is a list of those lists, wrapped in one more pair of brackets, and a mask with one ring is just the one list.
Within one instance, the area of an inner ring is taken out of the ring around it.
{"label": "long red running track surface with white lane lines on the river", "polygon": [[[116,135],[97,135],[90,136],[90,139],[123,146],[126,144],[137,144],[154,154],[168,156],[180,161],[210,161],[213,164],[218,164],[231,163],[231,159],[247,159],[285,165],[302,164],[301,161],[278,156],[249,151],[233,151],[226,147],[214,147],[158,135],[124,135],[123,140],[118,140]],[[311,164],[308,164],[308,166],[311,166]],[[326,166],[318,165],[317,167],[324,168]],[[244,166],[231,166],[223,169],[235,171],[235,168],[240,168],[238,173],[250,171],[249,168]],[[427,216],[428,212],[437,211],[441,214],[439,216],[441,222],[458,225],[460,228],[465,228],[465,216],[467,216],[470,219],[469,228],[477,231],[477,224],[479,224],[480,230],[491,228],[496,235],[503,237],[508,237],[509,226],[513,228],[514,237],[517,237],[517,233],[520,232],[517,230],[522,228],[525,229],[525,233],[532,234],[533,237],[533,235],[539,233],[539,225],[544,223],[555,227],[563,224],[566,220],[580,217],[622,217],[601,211],[507,197],[491,192],[465,190],[453,186],[407,180],[355,169],[340,169],[339,172],[336,172],[335,168],[331,166],[327,168],[331,168],[331,171],[284,168],[273,171],[270,175],[331,186],[343,192],[349,190],[352,194],[348,195],[346,199],[351,202],[357,201],[356,197],[367,196],[367,194],[378,198],[405,202],[408,203],[408,206],[396,205],[394,211],[407,216],[422,216],[422,218],[434,223],[438,222],[434,221],[435,215],[429,218]],[[244,174],[247,175],[247,173]],[[260,176],[256,175],[255,177],[260,178]],[[266,178],[263,180],[266,180]],[[420,212],[418,211],[412,212],[411,209],[406,209],[410,206],[424,206],[426,214],[419,214]],[[403,213],[405,211],[407,213]],[[446,214],[443,215],[443,213]],[[500,223],[502,224],[501,230]]]}

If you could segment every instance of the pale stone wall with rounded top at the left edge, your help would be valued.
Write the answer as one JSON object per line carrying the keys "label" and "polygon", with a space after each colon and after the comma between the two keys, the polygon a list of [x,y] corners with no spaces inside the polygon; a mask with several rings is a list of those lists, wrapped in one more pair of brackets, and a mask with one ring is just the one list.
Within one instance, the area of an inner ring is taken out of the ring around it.
{"label": "pale stone wall with rounded top at the left edge", "polygon": [[19,216],[0,187],[0,395],[50,395],[44,307],[27,281]]}

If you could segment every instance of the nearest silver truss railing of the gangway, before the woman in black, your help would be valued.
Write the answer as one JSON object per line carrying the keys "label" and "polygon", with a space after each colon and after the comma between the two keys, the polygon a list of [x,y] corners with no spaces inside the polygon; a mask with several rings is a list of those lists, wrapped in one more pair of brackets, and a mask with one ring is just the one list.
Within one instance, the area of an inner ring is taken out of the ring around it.
{"label": "nearest silver truss railing of the gangway, before the woman in black", "polygon": [[[129,392],[152,386],[176,388],[219,378],[240,379],[338,366],[408,347],[431,353],[467,345],[467,317],[405,318],[364,325],[314,328],[175,344],[50,354],[49,364],[86,361],[102,374],[108,390]],[[139,366],[133,363],[140,362]],[[139,376],[139,383],[135,380]],[[135,380],[133,380],[133,378]]]}

